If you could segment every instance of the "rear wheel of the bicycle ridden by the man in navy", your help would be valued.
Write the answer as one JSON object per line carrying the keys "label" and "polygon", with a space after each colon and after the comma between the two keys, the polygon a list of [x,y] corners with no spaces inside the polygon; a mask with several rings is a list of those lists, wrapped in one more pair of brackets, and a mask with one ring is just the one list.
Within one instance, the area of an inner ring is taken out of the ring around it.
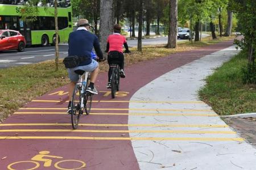
{"label": "rear wheel of the bicycle ridden by the man in navy", "polygon": [[72,123],[72,128],[77,129],[79,125],[79,119],[81,116],[81,103],[80,103],[80,86],[76,84],[74,91],[73,91],[73,96],[72,96],[72,103],[71,103],[71,123]]}

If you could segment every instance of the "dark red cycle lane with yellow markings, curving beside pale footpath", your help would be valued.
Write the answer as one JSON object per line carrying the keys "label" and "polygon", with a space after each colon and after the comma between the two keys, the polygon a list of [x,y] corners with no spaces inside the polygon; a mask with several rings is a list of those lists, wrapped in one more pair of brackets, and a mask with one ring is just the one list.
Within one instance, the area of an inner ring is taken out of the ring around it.
{"label": "dark red cycle lane with yellow markings, curving beside pale footpath", "polygon": [[67,86],[32,100],[0,124],[0,169],[139,169],[127,125],[131,96],[160,75],[230,45],[221,42],[126,67],[115,99],[105,88],[107,74],[100,74],[99,95],[77,130],[65,113]]}

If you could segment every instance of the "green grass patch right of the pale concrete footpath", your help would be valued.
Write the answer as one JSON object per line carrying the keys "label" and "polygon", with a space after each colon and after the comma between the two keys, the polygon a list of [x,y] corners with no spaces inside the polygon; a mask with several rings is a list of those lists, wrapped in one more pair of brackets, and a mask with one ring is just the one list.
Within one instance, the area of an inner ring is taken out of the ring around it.
{"label": "green grass patch right of the pale concrete footpath", "polygon": [[241,52],[208,76],[200,98],[220,115],[256,112],[256,85],[243,84],[241,68],[247,56]]}

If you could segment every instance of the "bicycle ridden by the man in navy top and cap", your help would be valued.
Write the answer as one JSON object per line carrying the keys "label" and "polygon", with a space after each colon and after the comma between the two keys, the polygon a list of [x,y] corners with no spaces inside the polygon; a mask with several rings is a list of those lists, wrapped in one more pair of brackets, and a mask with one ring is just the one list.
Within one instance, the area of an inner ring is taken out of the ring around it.
{"label": "bicycle ridden by the man in navy top and cap", "polygon": [[86,92],[90,81],[89,72],[75,70],[75,73],[79,74],[79,81],[75,85],[71,100],[71,123],[73,129],[77,129],[80,116],[84,111],[87,115],[90,113],[93,97],[93,94]]}

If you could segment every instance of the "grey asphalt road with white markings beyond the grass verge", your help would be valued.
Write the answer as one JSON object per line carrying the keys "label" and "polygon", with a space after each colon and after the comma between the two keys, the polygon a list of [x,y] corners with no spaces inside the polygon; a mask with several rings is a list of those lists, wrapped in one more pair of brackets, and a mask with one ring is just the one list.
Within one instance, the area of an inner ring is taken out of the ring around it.
{"label": "grey asphalt road with white markings beyond the grass verge", "polygon": [[[203,37],[208,36],[203,34]],[[158,37],[155,39],[143,39],[142,45],[156,45],[156,44],[167,44],[168,37]],[[127,43],[129,46],[137,46],[138,40],[128,40]],[[178,41],[187,41],[187,40],[178,40]],[[104,48],[103,48],[104,49]],[[60,58],[64,58],[68,54],[68,45],[61,44],[59,46]],[[11,67],[11,66],[20,66],[27,65],[30,63],[38,63],[46,61],[48,59],[55,58],[55,47],[46,46],[46,47],[29,47],[26,48],[24,52],[17,52],[16,50],[10,50],[5,52],[0,52],[0,69]]]}

